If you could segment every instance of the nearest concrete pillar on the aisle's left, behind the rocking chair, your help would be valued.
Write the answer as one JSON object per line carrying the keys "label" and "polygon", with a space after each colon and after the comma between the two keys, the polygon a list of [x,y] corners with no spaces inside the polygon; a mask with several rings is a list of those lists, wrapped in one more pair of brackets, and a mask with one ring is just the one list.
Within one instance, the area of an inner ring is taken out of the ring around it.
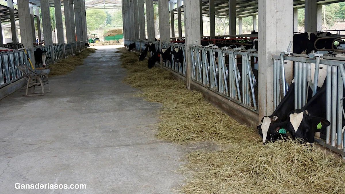
{"label": "nearest concrete pillar on the aisle's left, behind the rocking chair", "polygon": [[[32,65],[35,65],[35,58],[33,57],[33,42],[32,42],[32,28],[31,28],[31,18],[29,0],[18,1],[18,16],[19,16],[19,26],[21,33],[21,43],[25,48],[28,48],[31,53]],[[16,37],[16,30],[12,30],[14,37]]]}

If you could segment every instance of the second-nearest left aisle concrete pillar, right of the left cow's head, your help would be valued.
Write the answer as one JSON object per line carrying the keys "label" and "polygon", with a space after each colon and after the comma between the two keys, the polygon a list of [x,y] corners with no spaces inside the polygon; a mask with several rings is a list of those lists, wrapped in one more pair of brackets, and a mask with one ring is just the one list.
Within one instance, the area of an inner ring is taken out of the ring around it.
{"label": "second-nearest left aisle concrete pillar, right of the left cow's head", "polygon": [[[53,36],[52,36],[52,29],[51,29],[51,22],[50,22],[50,10],[49,10],[49,2],[47,0],[41,0],[41,10],[42,10],[42,25],[43,25],[43,36],[44,36],[44,44],[46,46],[53,46]],[[51,49],[52,56],[54,57],[54,50]]]}

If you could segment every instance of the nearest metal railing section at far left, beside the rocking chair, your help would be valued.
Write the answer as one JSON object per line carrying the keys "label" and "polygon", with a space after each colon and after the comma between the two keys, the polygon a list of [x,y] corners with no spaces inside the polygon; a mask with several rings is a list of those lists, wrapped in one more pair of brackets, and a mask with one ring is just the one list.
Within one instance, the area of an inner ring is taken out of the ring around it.
{"label": "nearest metal railing section at far left, beside the rocking chair", "polygon": [[[31,56],[30,50],[27,49],[27,51],[28,55]],[[22,78],[22,73],[17,65],[26,65],[31,68],[24,50],[0,53],[0,63],[0,88]]]}

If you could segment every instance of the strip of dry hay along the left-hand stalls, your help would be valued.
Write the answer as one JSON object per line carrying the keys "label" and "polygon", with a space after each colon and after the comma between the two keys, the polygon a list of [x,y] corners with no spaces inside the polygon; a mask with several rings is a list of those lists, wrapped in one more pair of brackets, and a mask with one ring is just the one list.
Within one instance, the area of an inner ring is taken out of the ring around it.
{"label": "strip of dry hay along the left-hand stalls", "polygon": [[90,53],[96,52],[96,49],[87,48],[81,52],[77,52],[75,56],[61,59],[55,64],[48,66],[50,69],[49,76],[66,75],[76,69],[77,66],[83,65],[83,59],[88,57]]}

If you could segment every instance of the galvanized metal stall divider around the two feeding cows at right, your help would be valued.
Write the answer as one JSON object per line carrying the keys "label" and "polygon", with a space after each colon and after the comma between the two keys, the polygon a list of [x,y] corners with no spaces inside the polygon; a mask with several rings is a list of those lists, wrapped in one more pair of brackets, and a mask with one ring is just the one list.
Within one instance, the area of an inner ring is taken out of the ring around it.
{"label": "galvanized metal stall divider around the two feeding cows at right", "polygon": [[[343,90],[345,88],[345,58],[328,57],[317,53],[309,55],[281,54],[280,56],[273,55],[272,58],[274,60],[273,90],[275,108],[285,95],[282,87],[284,85],[284,81],[282,81],[284,73],[281,70],[285,61],[294,62],[295,109],[300,109],[307,103],[309,87],[312,89],[313,96],[317,93],[319,73],[320,71],[326,72],[326,119],[331,125],[326,129],[325,140],[315,137],[315,141],[344,157],[343,119],[345,118],[345,111],[343,108]],[[314,74],[312,74],[312,70],[314,70]],[[314,76],[313,79],[312,76]],[[319,82],[319,86],[321,83],[322,81]]]}

